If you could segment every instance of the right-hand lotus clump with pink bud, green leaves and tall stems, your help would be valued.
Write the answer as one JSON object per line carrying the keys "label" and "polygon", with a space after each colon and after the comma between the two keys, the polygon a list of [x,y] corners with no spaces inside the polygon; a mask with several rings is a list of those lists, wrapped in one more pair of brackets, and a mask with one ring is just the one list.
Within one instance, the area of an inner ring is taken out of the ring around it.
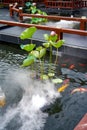
{"label": "right-hand lotus clump with pink bud, green leaves and tall stems", "polygon": [[43,43],[43,46],[45,46],[46,48],[49,48],[49,52],[50,52],[50,56],[49,56],[49,77],[53,77],[54,76],[54,72],[51,72],[51,67],[52,67],[52,47],[55,47],[57,49],[56,52],[56,60],[55,63],[57,63],[57,59],[58,59],[58,48],[61,47],[64,44],[64,40],[58,40],[58,35],[52,31],[50,34],[44,34],[44,38],[46,40],[45,43]]}

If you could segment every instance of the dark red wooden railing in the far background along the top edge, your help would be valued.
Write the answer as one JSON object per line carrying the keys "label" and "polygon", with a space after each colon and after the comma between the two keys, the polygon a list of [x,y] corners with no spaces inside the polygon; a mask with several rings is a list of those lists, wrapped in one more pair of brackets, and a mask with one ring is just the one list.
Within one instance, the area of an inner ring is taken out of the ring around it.
{"label": "dark red wooden railing in the far background along the top edge", "polygon": [[[0,3],[3,5],[9,5],[17,2],[20,6],[23,6],[25,2],[29,0],[2,0]],[[87,0],[76,1],[63,1],[63,0],[33,0],[36,3],[44,3],[46,8],[60,8],[60,9],[78,9],[87,7]]]}

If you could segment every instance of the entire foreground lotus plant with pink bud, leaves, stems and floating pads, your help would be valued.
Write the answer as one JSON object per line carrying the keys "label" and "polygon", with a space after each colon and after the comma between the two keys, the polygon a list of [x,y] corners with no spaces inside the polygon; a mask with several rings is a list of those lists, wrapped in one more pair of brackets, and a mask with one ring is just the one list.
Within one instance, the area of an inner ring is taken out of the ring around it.
{"label": "entire foreground lotus plant with pink bud, leaves, stems and floating pads", "polygon": [[[64,40],[58,40],[58,35],[52,31],[50,34],[44,34],[44,38],[46,40],[45,43],[42,44],[42,46],[36,47],[36,44],[32,43],[32,37],[33,34],[37,31],[36,27],[30,27],[25,29],[21,35],[20,39],[25,40],[25,39],[31,39],[31,42],[26,45],[20,45],[21,49],[25,50],[28,52],[28,56],[26,59],[24,59],[22,67],[28,67],[28,66],[33,66],[37,60],[39,61],[38,68],[40,69],[40,72],[37,71],[37,75],[39,75],[40,79],[52,79],[53,82],[57,83],[60,82],[60,79],[56,78],[54,79],[55,72],[51,70],[52,68],[52,52],[53,52],[53,47],[57,49],[57,56],[56,60],[58,58],[58,48],[61,47],[64,44]],[[45,66],[45,56],[46,56],[46,51],[49,49],[49,68],[48,68],[48,73],[44,72],[44,66]],[[36,70],[39,70],[39,69]],[[34,68],[32,67],[32,70]]]}

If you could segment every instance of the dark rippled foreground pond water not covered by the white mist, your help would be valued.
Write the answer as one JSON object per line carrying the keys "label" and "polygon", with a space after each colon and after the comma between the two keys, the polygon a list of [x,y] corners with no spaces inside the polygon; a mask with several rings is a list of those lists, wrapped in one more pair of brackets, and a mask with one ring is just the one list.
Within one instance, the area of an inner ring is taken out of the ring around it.
{"label": "dark rippled foreground pond water not covered by the white mist", "polygon": [[[11,46],[10,44],[4,43],[0,44],[0,86],[5,92],[7,101],[5,107],[0,108],[0,115],[3,117],[8,109],[10,109],[12,113],[12,109],[15,111],[16,106],[23,96],[23,90],[21,86],[17,84],[18,81],[13,80],[13,77],[11,77],[11,75],[9,76],[8,73],[11,72],[14,75],[16,71],[20,70],[20,65],[25,57],[26,53],[21,51],[18,46]],[[74,88],[87,88],[87,60],[63,55],[59,57],[58,62],[61,71],[61,73],[58,74],[59,77],[63,80],[70,79],[70,84],[69,87],[62,92],[62,97],[57,98],[54,103],[44,108],[43,113],[47,112],[48,117],[41,130],[73,130],[87,112],[87,92],[71,94]],[[72,67],[73,65],[74,67]],[[15,75],[15,79],[18,79],[18,76],[19,75]],[[11,114],[11,112],[8,112],[8,114]],[[20,129],[21,122],[19,116],[17,113],[15,117],[14,115],[15,114],[10,117],[8,116],[10,119],[7,119],[7,116],[3,118],[7,120],[6,123],[5,120],[3,120],[4,123],[1,125],[0,130],[23,130],[24,127]],[[0,124],[1,123],[2,119],[0,119]],[[30,127],[24,130],[39,129],[38,127]]]}

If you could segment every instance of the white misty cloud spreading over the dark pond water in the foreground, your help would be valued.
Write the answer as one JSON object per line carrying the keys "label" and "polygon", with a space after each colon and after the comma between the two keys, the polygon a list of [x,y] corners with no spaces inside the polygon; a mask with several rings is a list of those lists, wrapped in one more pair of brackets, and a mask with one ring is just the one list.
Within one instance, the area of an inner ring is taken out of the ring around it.
{"label": "white misty cloud spreading over the dark pond water in the foreground", "polygon": [[[17,123],[21,124],[17,130],[42,130],[48,114],[41,108],[53,103],[61,96],[60,93],[49,81],[41,82],[31,79],[29,72],[24,70],[11,71],[7,79],[10,80],[10,85],[15,84],[11,88],[21,86],[23,95],[16,105],[8,106],[4,114],[0,116],[0,130],[5,130],[16,116],[18,116]],[[6,81],[5,85],[7,84]]]}

